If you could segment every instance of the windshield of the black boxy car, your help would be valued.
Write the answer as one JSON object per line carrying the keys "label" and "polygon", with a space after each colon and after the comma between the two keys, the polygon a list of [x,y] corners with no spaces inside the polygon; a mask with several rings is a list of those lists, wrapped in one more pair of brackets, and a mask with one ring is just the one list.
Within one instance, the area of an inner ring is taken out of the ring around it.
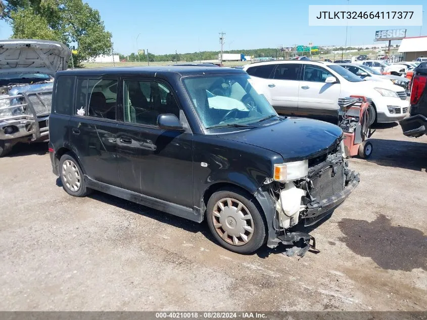
{"label": "windshield of the black boxy car", "polygon": [[277,116],[256,92],[248,74],[185,77],[183,82],[205,128],[245,125]]}

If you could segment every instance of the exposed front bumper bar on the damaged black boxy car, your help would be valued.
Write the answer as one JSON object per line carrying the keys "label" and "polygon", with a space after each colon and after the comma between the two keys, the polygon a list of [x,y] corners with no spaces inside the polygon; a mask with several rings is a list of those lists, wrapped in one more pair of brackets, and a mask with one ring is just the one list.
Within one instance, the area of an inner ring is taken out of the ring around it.
{"label": "exposed front bumper bar on the damaged black boxy car", "polygon": [[327,199],[323,199],[314,205],[307,205],[307,211],[302,215],[302,218],[305,219],[305,226],[318,222],[340,206],[359,184],[360,174],[354,171],[349,172],[347,181],[347,187],[343,191]]}

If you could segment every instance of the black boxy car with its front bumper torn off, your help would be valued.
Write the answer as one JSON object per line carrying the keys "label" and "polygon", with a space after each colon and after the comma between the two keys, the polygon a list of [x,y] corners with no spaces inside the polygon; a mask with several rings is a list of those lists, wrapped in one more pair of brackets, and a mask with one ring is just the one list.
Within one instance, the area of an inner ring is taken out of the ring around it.
{"label": "black boxy car with its front bumper torn off", "polygon": [[312,239],[290,230],[329,216],[356,188],[343,131],[277,115],[235,68],[58,72],[53,172],[76,197],[98,190],[189,220],[223,247]]}

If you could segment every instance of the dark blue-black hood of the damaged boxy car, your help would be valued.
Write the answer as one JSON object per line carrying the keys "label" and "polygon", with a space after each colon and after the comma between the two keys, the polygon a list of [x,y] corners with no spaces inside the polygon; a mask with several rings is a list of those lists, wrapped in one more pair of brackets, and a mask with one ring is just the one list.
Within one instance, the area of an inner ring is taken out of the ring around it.
{"label": "dark blue-black hood of the damaged boxy car", "polygon": [[336,146],[343,134],[337,125],[306,118],[286,118],[251,130],[219,135],[280,154],[284,162],[305,160]]}

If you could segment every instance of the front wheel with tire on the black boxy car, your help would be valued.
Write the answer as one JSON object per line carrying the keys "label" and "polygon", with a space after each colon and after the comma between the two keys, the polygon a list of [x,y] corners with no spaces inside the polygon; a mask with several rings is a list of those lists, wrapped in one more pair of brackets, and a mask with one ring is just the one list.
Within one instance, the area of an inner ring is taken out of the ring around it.
{"label": "front wheel with tire on the black boxy car", "polygon": [[266,239],[266,223],[255,199],[236,189],[220,189],[210,197],[207,220],[215,240],[238,253],[252,253]]}

